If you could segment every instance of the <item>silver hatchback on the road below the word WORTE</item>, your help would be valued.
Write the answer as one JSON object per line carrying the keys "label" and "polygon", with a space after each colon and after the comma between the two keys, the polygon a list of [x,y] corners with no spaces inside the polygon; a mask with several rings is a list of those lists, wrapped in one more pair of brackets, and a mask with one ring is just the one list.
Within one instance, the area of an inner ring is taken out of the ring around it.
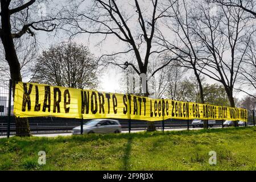
{"label": "silver hatchback on the road below the word WORTE", "polygon": [[[92,119],[86,122],[82,127],[82,133],[121,133],[121,125],[114,119]],[[73,135],[81,134],[81,126],[73,128]]]}

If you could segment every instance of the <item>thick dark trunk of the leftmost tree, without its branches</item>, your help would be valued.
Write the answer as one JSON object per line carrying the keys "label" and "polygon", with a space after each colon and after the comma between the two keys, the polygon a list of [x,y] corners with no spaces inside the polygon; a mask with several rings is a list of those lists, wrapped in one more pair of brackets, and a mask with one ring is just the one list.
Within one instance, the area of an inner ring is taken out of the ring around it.
{"label": "thick dark trunk of the leftmost tree, without its branches", "polygon": [[[15,93],[15,82],[22,81],[20,74],[20,64],[14,46],[14,40],[11,36],[10,10],[9,3],[1,1],[1,40],[5,49],[5,59],[10,67],[11,80],[13,80],[13,99]],[[30,127],[27,118],[15,118],[16,135],[20,137],[30,136]]]}

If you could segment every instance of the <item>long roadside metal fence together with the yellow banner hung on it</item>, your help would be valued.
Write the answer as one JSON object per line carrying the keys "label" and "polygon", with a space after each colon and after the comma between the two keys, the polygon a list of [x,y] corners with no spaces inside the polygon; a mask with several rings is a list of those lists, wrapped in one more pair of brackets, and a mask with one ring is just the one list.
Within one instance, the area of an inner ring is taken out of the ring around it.
{"label": "long roadside metal fence together with the yellow banner hung on it", "polygon": [[15,117],[28,118],[32,135],[130,133],[147,130],[152,122],[161,131],[203,127],[203,120],[207,128],[232,126],[234,121],[255,126],[254,110],[11,80],[0,84],[0,135],[7,137],[15,135]]}

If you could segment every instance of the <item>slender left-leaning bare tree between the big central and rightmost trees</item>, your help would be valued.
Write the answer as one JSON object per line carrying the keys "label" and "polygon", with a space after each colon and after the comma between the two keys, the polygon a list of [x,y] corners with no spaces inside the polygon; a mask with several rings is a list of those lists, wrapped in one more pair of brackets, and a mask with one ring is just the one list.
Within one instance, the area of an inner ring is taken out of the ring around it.
{"label": "slender left-leaning bare tree between the big central and rightmost trees", "polygon": [[[192,11],[191,4],[189,5],[185,0],[168,0],[167,2],[171,8],[166,11],[166,18],[163,21],[168,30],[168,35],[164,35],[163,31],[158,31],[158,38],[162,40],[158,44],[179,56],[181,66],[193,70],[200,88],[200,102],[204,104],[200,69],[197,65],[199,48],[195,35],[191,31],[191,17],[189,17]],[[166,4],[163,4],[163,6],[166,6]]]}

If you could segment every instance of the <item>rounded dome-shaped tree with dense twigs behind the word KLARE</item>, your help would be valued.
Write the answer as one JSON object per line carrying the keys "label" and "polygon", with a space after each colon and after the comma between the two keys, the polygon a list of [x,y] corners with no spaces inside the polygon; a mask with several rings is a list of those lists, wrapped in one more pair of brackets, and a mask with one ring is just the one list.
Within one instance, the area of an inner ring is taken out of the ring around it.
{"label": "rounded dome-shaped tree with dense twigs behind the word KLARE", "polygon": [[88,48],[63,43],[43,51],[32,69],[32,81],[78,89],[96,89],[97,61]]}

